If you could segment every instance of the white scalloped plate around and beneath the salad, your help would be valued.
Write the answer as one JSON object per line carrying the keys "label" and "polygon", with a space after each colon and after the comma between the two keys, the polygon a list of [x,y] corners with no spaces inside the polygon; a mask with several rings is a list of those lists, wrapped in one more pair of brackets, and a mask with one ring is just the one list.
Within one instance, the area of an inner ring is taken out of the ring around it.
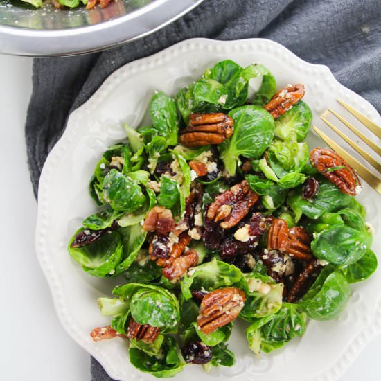
{"label": "white scalloped plate around and beneath the salad", "polygon": [[[117,338],[94,343],[89,333],[95,326],[109,324],[96,304],[110,295],[119,281],[95,278],[82,271],[67,253],[67,242],[82,220],[96,211],[87,186],[96,162],[108,145],[125,137],[121,122],[136,127],[146,122],[154,90],[175,94],[215,62],[230,58],[242,66],[265,64],[274,73],[278,88],[304,83],[305,102],[314,113],[314,124],[324,127],[319,114],[327,107],[356,122],[336,102],[341,98],[380,123],[378,112],[357,94],[335,80],[327,67],[304,62],[283,46],[266,39],[218,42],[190,39],[161,53],[138,60],[109,76],[85,105],[71,114],[67,129],[46,159],[39,183],[36,250],[51,287],[55,308],[69,335],[105,367],[116,380],[152,380],[128,361],[127,343]],[[337,122],[339,125],[339,122]],[[364,129],[364,134],[369,132]],[[374,138],[373,138],[374,139]],[[310,148],[323,144],[308,138]],[[339,141],[342,143],[342,141]],[[348,151],[353,153],[350,148]],[[358,200],[366,206],[367,220],[375,228],[373,249],[380,247],[377,215],[380,197],[364,184]],[[378,214],[379,213],[379,214]],[[381,332],[381,271],[352,286],[353,294],[338,319],[310,321],[307,333],[269,355],[255,357],[247,347],[244,331],[236,324],[230,348],[236,365],[220,366],[205,373],[202,366],[187,366],[175,380],[326,381],[339,378],[366,342]]]}

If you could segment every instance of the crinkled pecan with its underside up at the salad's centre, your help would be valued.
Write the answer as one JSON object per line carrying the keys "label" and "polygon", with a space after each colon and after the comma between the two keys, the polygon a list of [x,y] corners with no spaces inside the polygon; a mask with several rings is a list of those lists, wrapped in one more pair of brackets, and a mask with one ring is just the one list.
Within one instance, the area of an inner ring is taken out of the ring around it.
{"label": "crinkled pecan with its underside up at the salad's centre", "polygon": [[222,229],[229,229],[249,213],[251,206],[259,196],[251,190],[246,180],[232,186],[226,192],[215,197],[209,206],[206,216],[214,222],[220,222]]}

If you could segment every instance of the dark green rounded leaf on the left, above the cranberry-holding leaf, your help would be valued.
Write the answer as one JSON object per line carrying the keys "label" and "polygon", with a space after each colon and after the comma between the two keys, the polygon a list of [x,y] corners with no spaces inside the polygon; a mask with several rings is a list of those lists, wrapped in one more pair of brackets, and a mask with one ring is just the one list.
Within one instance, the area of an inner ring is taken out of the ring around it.
{"label": "dark green rounded leaf on the left, above the cranberry-holding leaf", "polygon": [[125,212],[139,209],[145,201],[141,187],[116,169],[103,180],[103,197],[112,209]]}

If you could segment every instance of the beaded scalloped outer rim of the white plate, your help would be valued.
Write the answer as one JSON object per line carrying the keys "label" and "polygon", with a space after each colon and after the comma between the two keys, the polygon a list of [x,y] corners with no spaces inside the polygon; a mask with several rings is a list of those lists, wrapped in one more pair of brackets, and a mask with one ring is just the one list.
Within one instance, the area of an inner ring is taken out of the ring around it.
{"label": "beaded scalloped outer rim of the white plate", "polygon": [[[89,348],[89,341],[87,340],[82,340],[78,333],[76,333],[76,330],[73,328],[73,326],[69,326],[69,322],[65,320],[64,315],[68,315],[67,317],[70,318],[69,312],[65,310],[64,305],[62,305],[62,296],[60,296],[61,290],[60,286],[57,283],[57,280],[55,279],[55,272],[54,272],[54,267],[51,263],[48,261],[48,256],[46,256],[45,253],[45,248],[44,244],[42,243],[42,246],[37,245],[37,242],[39,241],[44,242],[44,235],[46,232],[46,226],[44,222],[46,222],[46,215],[44,215],[44,206],[46,206],[46,201],[44,200],[44,191],[48,189],[48,184],[49,184],[49,179],[48,175],[49,172],[57,165],[57,160],[60,158],[60,150],[64,147],[64,144],[67,143],[67,141],[72,140],[73,137],[76,135],[76,130],[75,125],[76,125],[76,120],[81,117],[82,113],[89,113],[91,111],[91,107],[94,107],[96,103],[99,100],[102,100],[107,96],[107,91],[112,90],[112,85],[114,85],[114,80],[116,78],[121,77],[119,80],[123,81],[129,78],[130,76],[134,76],[134,73],[125,73],[129,69],[133,68],[138,68],[139,71],[139,64],[141,62],[152,62],[155,63],[156,60],[160,60],[161,57],[165,57],[165,55],[169,55],[175,51],[180,51],[181,48],[191,48],[191,44],[206,44],[210,46],[222,46],[222,45],[236,45],[236,44],[257,44],[257,43],[262,43],[262,44],[269,44],[270,46],[272,45],[275,49],[278,49],[283,53],[284,55],[288,55],[289,57],[292,57],[294,60],[298,60],[303,66],[308,66],[312,67],[314,69],[319,69],[320,71],[324,71],[326,75],[330,76],[330,80],[334,81],[336,85],[339,85],[344,91],[350,92],[351,95],[356,99],[356,100],[362,100],[367,103],[366,107],[369,109],[369,112],[371,112],[372,117],[375,119],[380,118],[378,115],[377,110],[373,105],[371,105],[369,102],[364,100],[360,95],[356,94],[354,91],[351,89],[348,89],[344,85],[342,85],[340,82],[337,81],[335,76],[333,76],[332,71],[324,65],[324,64],[312,64],[310,62],[306,62],[305,60],[302,60],[300,57],[292,53],[289,49],[285,48],[285,46],[278,44],[277,42],[274,42],[269,39],[260,39],[260,38],[250,38],[250,39],[238,39],[238,40],[230,40],[230,41],[220,41],[220,40],[213,40],[213,39],[206,39],[206,38],[194,38],[194,39],[186,39],[182,42],[179,42],[175,45],[172,45],[166,49],[163,49],[163,51],[159,51],[158,53],[155,53],[154,55],[150,55],[148,57],[143,57],[139,60],[135,60],[132,62],[129,62],[122,67],[116,69],[109,77],[106,78],[106,80],[103,82],[102,85],[95,91],[95,93],[85,102],[83,103],[78,109],[74,110],[71,112],[68,121],[67,121],[67,127],[64,130],[64,133],[60,137],[60,139],[57,141],[57,143],[54,145],[53,149],[51,152],[48,154],[48,157],[46,158],[46,161],[44,163],[44,167],[42,168],[40,180],[39,180],[39,190],[38,190],[38,210],[37,210],[37,224],[36,224],[36,231],[35,231],[35,250],[37,254],[37,259],[39,260],[39,264],[42,267],[42,271],[44,272],[44,276],[46,277],[46,280],[48,281],[48,286],[50,288],[52,297],[53,297],[53,304],[55,307],[55,311],[57,313],[58,318],[60,319],[60,322],[62,326],[64,327],[64,330],[67,331],[67,333],[80,345],[82,348],[85,349],[91,356],[96,358],[100,364],[103,365],[105,370],[107,370],[107,373],[110,375],[110,377],[115,378],[116,380],[118,379],[119,375],[117,374],[117,370],[114,369],[112,364],[109,362],[107,358],[105,358],[105,355],[103,353],[100,353],[100,351],[96,351],[96,353],[91,353],[90,348]],[[154,66],[154,65],[153,65]],[[381,118],[380,118],[381,120]],[[348,347],[353,346],[353,342],[355,342],[356,338],[359,337],[360,335],[366,335],[366,340],[363,341],[360,345],[357,344],[356,348],[357,350],[353,351],[353,355],[350,360],[346,360],[346,364],[344,365],[344,368],[342,367],[342,371],[335,371],[335,375],[333,375],[333,378],[331,377],[330,380],[337,380],[342,373],[343,369],[344,371],[348,369],[348,366],[350,366],[357,355],[360,354],[364,346],[366,345],[367,342],[369,342],[375,335],[379,335],[381,333],[381,317],[378,317],[377,315],[379,314],[381,316],[381,299],[378,301],[378,307],[375,310],[375,326],[373,327],[366,327],[364,328],[360,333],[358,333],[355,337],[353,337],[353,340],[351,341],[351,344],[348,344]],[[305,380],[323,380],[328,376],[329,373],[331,375],[333,374],[333,371],[335,370],[335,366],[337,363],[342,360],[344,357],[344,351],[342,355],[339,356],[337,361],[328,369],[325,369],[321,373],[312,376],[307,376]],[[144,377],[146,373],[141,373],[139,371],[137,375]],[[136,374],[130,374],[132,378],[136,377]],[[153,380],[152,376],[151,379]]]}

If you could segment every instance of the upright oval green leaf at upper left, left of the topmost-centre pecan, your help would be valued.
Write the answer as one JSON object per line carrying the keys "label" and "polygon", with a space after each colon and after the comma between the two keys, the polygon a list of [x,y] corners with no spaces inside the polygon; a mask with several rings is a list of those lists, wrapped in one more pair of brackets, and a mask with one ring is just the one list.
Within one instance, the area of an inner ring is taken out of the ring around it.
{"label": "upright oval green leaf at upper left, left of the topmost-centre pecan", "polygon": [[168,145],[176,145],[178,130],[177,111],[172,98],[162,91],[154,94],[150,103],[150,116],[158,134],[166,139]]}

